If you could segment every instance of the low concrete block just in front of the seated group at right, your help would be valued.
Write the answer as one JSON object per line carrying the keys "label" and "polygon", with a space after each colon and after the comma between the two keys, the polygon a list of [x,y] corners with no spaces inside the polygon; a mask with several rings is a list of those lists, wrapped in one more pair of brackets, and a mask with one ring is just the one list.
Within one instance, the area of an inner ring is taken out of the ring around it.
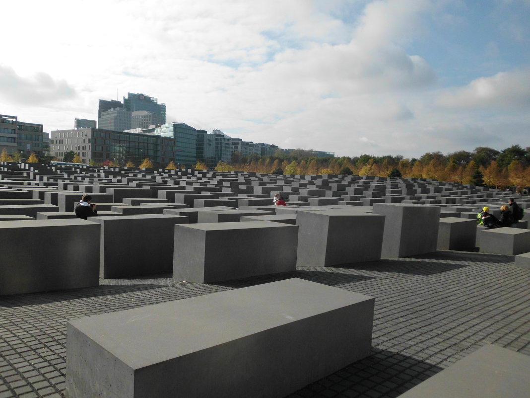
{"label": "low concrete block just in front of the seated group at right", "polygon": [[519,228],[484,229],[480,233],[480,253],[517,254],[530,252],[530,230]]}

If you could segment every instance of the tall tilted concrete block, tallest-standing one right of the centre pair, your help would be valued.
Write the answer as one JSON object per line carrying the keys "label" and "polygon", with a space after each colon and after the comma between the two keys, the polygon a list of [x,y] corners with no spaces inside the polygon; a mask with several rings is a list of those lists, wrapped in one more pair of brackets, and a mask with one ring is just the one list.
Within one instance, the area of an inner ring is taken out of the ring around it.
{"label": "tall tilted concrete block, tallest-standing one right of the centre pair", "polygon": [[373,213],[386,215],[382,257],[406,257],[436,252],[439,207],[374,203]]}

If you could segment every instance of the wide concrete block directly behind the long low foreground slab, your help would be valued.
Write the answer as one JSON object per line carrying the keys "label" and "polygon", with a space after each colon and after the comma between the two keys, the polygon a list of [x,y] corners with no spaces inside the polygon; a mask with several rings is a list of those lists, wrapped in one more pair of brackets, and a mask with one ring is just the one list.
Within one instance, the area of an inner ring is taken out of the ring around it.
{"label": "wide concrete block directly behind the long low foreground slab", "polygon": [[175,226],[173,279],[211,283],[296,270],[298,227],[269,221]]}

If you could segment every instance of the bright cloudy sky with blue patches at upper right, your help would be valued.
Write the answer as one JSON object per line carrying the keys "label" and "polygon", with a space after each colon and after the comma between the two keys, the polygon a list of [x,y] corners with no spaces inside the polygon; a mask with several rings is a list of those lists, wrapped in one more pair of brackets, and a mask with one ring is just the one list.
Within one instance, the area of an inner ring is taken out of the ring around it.
{"label": "bright cloudy sky with blue patches at upper right", "polygon": [[530,0],[11,1],[0,114],[73,128],[141,92],[280,148],[525,147],[529,20]]}

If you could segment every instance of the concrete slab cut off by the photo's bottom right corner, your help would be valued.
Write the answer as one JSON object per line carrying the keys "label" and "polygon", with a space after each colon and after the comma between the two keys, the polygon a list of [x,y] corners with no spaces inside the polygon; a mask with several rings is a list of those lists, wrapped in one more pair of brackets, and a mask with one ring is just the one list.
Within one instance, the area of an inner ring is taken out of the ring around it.
{"label": "concrete slab cut off by the photo's bottom right corner", "polygon": [[530,357],[488,344],[399,398],[528,398]]}

